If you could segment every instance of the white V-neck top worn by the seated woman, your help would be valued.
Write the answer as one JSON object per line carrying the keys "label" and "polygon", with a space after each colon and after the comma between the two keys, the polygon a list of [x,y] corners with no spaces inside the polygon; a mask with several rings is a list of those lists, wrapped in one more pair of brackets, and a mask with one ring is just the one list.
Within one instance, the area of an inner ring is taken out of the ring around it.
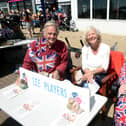
{"label": "white V-neck top worn by the seated woman", "polygon": [[109,65],[109,58],[110,47],[105,43],[100,43],[97,54],[93,54],[90,46],[84,46],[82,48],[82,69],[95,70],[102,67],[106,71]]}

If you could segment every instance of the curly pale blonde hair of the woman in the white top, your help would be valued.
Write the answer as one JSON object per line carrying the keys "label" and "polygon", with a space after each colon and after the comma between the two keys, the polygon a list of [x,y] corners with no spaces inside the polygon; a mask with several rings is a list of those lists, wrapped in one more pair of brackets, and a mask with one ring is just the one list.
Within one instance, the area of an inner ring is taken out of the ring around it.
{"label": "curly pale blonde hair of the woman in the white top", "polygon": [[87,38],[87,34],[88,34],[91,30],[95,31],[95,33],[97,34],[97,37],[98,37],[98,42],[100,43],[100,42],[101,42],[101,33],[100,33],[100,31],[99,31],[98,29],[96,29],[94,26],[89,26],[89,27],[87,28],[87,30],[86,30],[86,33],[85,33],[85,42],[86,42],[86,44],[89,43],[88,38]]}

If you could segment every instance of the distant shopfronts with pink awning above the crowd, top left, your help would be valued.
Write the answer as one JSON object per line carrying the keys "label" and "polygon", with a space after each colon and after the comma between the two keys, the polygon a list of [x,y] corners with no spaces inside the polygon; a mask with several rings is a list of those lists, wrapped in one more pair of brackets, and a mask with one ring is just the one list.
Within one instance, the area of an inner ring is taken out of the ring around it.
{"label": "distant shopfronts with pink awning above the crowd, top left", "polygon": [[57,5],[57,0],[0,0],[0,9],[4,13],[8,13],[10,10],[30,9],[33,13],[36,13],[39,8],[42,8],[41,1],[44,1],[45,7],[53,8]]}

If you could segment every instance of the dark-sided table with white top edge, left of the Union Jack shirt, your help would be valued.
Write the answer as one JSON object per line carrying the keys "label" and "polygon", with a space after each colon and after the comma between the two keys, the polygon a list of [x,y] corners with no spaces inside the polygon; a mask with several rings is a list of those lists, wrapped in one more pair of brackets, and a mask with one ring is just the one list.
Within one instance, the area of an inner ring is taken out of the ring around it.
{"label": "dark-sided table with white top edge, left of the Union Jack shirt", "polygon": [[[27,40],[13,40],[13,44],[0,46],[0,57],[2,64],[10,63],[12,67],[14,64],[20,64],[23,62],[27,45],[33,42],[35,39]],[[11,42],[11,41],[10,41]],[[8,54],[10,55],[8,57]]]}

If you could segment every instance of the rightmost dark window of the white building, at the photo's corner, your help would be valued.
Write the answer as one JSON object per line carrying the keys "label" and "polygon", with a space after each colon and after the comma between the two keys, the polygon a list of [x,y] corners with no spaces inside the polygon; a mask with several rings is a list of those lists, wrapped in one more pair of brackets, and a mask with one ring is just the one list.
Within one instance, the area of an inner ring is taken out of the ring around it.
{"label": "rightmost dark window of the white building, at the photo's corner", "polygon": [[110,0],[110,19],[126,19],[126,0]]}

